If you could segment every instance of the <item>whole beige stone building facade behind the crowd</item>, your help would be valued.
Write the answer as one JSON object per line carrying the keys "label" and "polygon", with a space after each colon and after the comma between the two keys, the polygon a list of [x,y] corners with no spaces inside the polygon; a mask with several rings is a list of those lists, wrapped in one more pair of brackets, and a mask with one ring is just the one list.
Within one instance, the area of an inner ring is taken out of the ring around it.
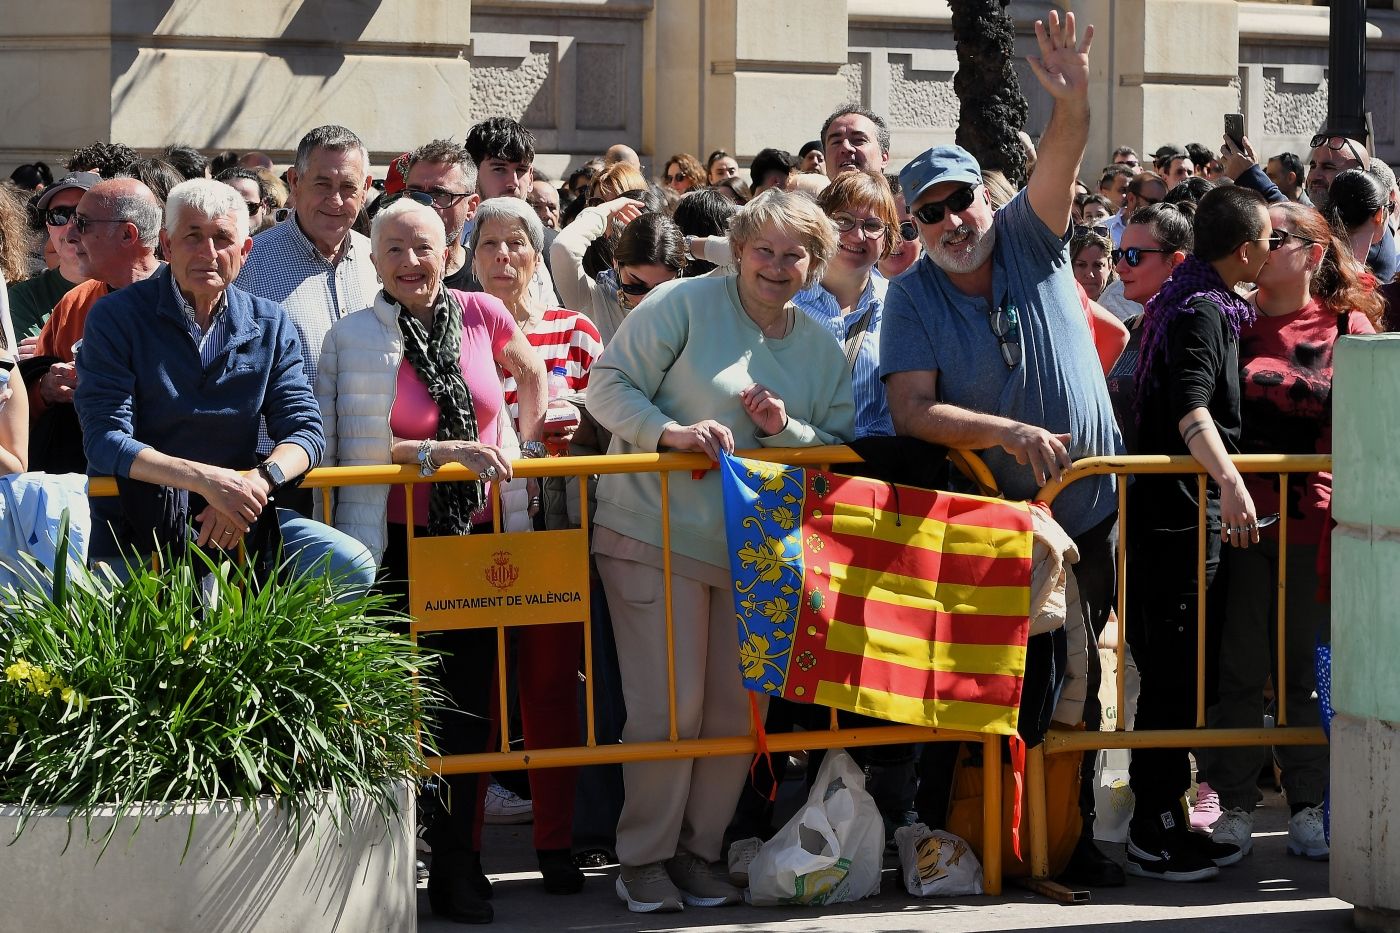
{"label": "whole beige stone building facade behind the crowd", "polygon": [[[1303,153],[1326,115],[1327,10],[1236,0],[1077,0],[1096,25],[1088,171],[1114,146],[1217,146],[1242,111],[1261,154]],[[1378,4],[1372,4],[1376,7]],[[1385,6],[1385,4],[1380,4]],[[1394,4],[1392,4],[1394,6]],[[886,113],[902,163],[951,141],[956,70],[937,0],[0,0],[0,170],[94,139],[262,148],[318,123],[374,161],[507,115],[559,175],[624,141],[659,168],[715,148],[797,150],[846,101]],[[1012,0],[1018,52],[1046,3]],[[1400,160],[1400,11],[1369,11],[1368,106]],[[1029,67],[1028,130],[1049,115]]]}

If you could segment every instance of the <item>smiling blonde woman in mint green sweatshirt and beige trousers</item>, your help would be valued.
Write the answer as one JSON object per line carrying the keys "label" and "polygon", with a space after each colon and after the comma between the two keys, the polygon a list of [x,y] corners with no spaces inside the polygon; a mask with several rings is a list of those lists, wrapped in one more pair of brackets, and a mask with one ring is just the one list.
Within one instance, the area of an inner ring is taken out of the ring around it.
{"label": "smiling blonde woman in mint green sweatshirt and beige trousers", "polygon": [[[610,452],[720,451],[840,444],[855,403],[841,346],[792,296],[836,252],[832,221],[802,195],[764,192],[729,233],[738,273],[655,289],[594,364],[588,408],[613,431]],[[672,621],[682,738],[742,735],[732,580],[717,471],[672,474]],[[598,485],[594,552],[617,639],[623,740],[669,735],[666,626],[657,474]],[[623,766],[617,895],[638,912],[718,906],[739,892],[711,869],[749,756]]]}

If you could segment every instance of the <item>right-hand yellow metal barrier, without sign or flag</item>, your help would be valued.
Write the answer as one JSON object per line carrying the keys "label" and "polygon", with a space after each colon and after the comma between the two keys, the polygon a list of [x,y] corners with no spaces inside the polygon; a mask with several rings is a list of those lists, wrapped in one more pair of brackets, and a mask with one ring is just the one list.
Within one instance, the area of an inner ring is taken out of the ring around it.
{"label": "right-hand yellow metal barrier, without sign or flag", "polygon": [[[1285,677],[1285,595],[1287,572],[1285,555],[1288,546],[1288,475],[1330,472],[1331,457],[1326,454],[1315,455],[1284,455],[1284,454],[1245,454],[1231,457],[1235,466],[1242,474],[1277,474],[1280,489],[1278,509],[1278,668],[1274,677],[1274,695],[1278,702],[1278,714],[1274,728],[1266,728],[1263,723],[1259,728],[1205,728],[1205,468],[1194,457],[1092,457],[1081,459],[1065,472],[1058,481],[1047,483],[1039,495],[1042,502],[1054,502],[1065,486],[1084,479],[1085,476],[1117,475],[1120,481],[1131,475],[1145,474],[1180,474],[1197,475],[1197,500],[1200,511],[1197,516],[1197,657],[1196,657],[1196,728],[1177,730],[1149,730],[1124,731],[1126,716],[1121,713],[1126,699],[1126,651],[1127,651],[1127,549],[1126,535],[1119,535],[1117,579],[1119,579],[1119,639],[1117,639],[1117,685],[1114,696],[1120,710],[1117,728],[1105,731],[1074,731],[1051,728],[1046,734],[1046,741],[1030,749],[1026,762],[1026,782],[1029,785],[1030,811],[1030,856],[1032,876],[1044,878],[1049,871],[1049,841],[1044,814],[1044,755],[1096,751],[1102,748],[1219,748],[1232,745],[1322,745],[1326,737],[1322,728],[1289,727],[1287,724],[1287,707],[1284,695],[1287,693]],[[1119,482],[1119,527],[1126,528],[1127,517],[1127,483]]]}

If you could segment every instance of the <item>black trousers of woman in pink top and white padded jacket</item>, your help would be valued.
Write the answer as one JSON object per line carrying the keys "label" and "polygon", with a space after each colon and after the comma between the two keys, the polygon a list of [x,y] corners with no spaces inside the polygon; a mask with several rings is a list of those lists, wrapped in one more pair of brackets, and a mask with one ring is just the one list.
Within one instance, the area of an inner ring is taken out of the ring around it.
{"label": "black trousers of woman in pink top and white padded jacket", "polygon": [[[395,608],[409,607],[409,548],[403,525],[391,524],[384,549],[379,591],[393,597]],[[477,525],[472,534],[490,534]],[[414,534],[426,535],[427,528]],[[419,643],[442,651],[438,677],[449,703],[433,710],[435,751],[462,755],[494,751],[496,733],[496,629],[461,629],[423,635]],[[431,814],[428,845],[434,853],[472,852],[482,848],[480,800],[490,775],[448,775],[440,783]]]}

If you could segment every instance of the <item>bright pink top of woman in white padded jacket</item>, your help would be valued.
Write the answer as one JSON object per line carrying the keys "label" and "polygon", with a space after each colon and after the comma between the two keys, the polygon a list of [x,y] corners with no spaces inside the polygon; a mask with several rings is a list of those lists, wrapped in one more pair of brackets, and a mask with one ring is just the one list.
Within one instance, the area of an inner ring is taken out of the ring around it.
{"label": "bright pink top of woman in white padded jacket", "polygon": [[[462,375],[472,391],[476,408],[476,429],[483,444],[498,444],[500,430],[496,419],[505,408],[505,394],[496,374],[496,356],[505,347],[518,329],[515,318],[505,310],[500,298],[484,291],[456,291],[448,294],[456,298],[462,308]],[[437,437],[438,406],[428,395],[428,387],[419,378],[413,364],[399,363],[399,381],[389,412],[389,430],[403,440],[426,440]],[[428,523],[428,483],[413,486],[413,520],[419,525]],[[487,486],[490,495],[490,486]],[[489,502],[489,500],[487,500]],[[475,516],[476,521],[490,518],[487,504]],[[389,521],[405,524],[403,488],[389,489]]]}

